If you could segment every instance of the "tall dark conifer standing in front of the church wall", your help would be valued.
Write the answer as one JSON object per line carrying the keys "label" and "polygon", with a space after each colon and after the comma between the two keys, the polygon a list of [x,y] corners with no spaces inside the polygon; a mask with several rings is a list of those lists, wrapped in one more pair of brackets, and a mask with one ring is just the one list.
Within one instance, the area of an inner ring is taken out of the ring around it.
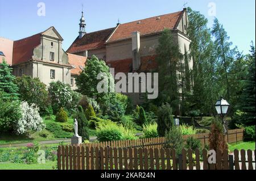
{"label": "tall dark conifer standing in front of the church wall", "polygon": [[177,77],[178,63],[181,58],[179,46],[174,41],[172,32],[165,29],[159,37],[156,48],[156,62],[158,62],[160,97],[179,111],[179,80]]}

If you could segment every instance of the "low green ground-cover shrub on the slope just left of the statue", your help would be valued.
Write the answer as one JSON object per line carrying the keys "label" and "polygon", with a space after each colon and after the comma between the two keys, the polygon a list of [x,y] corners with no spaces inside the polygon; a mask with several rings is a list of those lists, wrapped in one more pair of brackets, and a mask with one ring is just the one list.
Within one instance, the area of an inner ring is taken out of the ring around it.
{"label": "low green ground-cover shrub on the slope just left of the statue", "polygon": [[55,138],[71,138],[73,136],[73,133],[71,132],[66,132],[61,128],[60,124],[57,123],[47,123],[46,124],[46,129],[49,132],[52,132]]}

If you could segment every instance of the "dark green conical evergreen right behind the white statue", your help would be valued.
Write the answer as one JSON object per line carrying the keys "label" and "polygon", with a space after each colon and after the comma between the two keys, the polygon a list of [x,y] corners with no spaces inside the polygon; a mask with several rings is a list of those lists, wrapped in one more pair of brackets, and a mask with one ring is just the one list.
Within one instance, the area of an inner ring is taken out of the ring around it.
{"label": "dark green conical evergreen right behind the white statue", "polygon": [[[89,105],[89,107],[92,108],[92,106]],[[92,108],[93,110],[93,108]],[[95,115],[95,113],[94,113]],[[79,136],[82,137],[82,142],[84,142],[85,140],[89,140],[89,123],[88,120],[85,117],[85,113],[84,110],[82,109],[81,106],[79,106],[77,108],[77,112],[76,112],[76,119],[77,119],[77,123],[78,123],[78,134]]]}

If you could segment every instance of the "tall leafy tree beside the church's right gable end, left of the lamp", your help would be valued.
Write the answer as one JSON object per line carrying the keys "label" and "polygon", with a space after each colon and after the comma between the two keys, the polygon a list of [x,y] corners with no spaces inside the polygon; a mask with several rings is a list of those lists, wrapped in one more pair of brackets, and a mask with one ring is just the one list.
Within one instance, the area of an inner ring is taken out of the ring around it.
{"label": "tall leafy tree beside the church's right gable end, left of the lamp", "polygon": [[188,36],[191,39],[190,54],[193,60],[192,90],[189,100],[190,110],[200,110],[203,113],[213,113],[217,100],[216,60],[214,44],[208,28],[208,19],[199,11],[188,7]]}

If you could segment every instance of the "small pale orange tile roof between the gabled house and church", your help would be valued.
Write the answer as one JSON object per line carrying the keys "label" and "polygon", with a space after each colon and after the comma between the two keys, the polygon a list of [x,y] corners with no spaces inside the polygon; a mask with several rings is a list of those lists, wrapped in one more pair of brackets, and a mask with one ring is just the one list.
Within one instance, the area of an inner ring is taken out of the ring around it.
{"label": "small pale orange tile roof between the gabled house and church", "polygon": [[71,74],[79,75],[80,72],[82,71],[81,68],[85,67],[86,60],[87,60],[87,57],[82,57],[76,54],[68,53],[68,62],[70,65],[73,66],[73,69],[71,69]]}

